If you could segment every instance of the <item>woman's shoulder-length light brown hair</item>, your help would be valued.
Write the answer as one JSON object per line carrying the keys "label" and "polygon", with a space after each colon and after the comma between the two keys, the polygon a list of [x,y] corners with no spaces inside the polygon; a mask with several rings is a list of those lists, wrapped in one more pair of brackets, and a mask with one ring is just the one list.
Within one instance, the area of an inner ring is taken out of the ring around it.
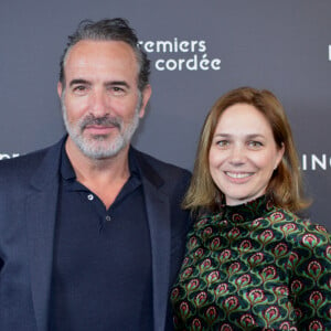
{"label": "woman's shoulder-length light brown hair", "polygon": [[276,205],[289,211],[296,212],[307,207],[309,202],[303,199],[299,159],[284,108],[271,92],[252,87],[241,87],[226,93],[216,100],[209,113],[200,136],[191,184],[182,206],[193,213],[215,212],[220,209],[223,193],[211,177],[209,154],[220,117],[225,109],[235,104],[252,105],[264,114],[277,147],[285,147],[282,159],[273,173],[266,193],[273,197]]}

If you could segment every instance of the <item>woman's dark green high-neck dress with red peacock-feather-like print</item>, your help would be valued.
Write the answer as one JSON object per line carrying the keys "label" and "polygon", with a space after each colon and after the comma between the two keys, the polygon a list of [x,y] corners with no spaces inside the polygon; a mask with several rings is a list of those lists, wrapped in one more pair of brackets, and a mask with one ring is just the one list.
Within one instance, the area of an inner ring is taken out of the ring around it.
{"label": "woman's dark green high-neck dress with red peacock-feather-like print", "polygon": [[331,330],[327,229],[266,196],[197,220],[171,292],[177,330]]}

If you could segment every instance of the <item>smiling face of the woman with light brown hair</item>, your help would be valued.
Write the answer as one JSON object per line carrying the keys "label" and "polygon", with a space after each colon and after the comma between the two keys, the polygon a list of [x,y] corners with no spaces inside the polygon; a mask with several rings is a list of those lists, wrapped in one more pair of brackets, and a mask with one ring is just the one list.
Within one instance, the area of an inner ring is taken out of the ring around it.
{"label": "smiling face of the woman with light brown hair", "polygon": [[210,171],[226,204],[236,205],[265,194],[284,154],[271,127],[254,106],[235,104],[221,115],[210,149]]}

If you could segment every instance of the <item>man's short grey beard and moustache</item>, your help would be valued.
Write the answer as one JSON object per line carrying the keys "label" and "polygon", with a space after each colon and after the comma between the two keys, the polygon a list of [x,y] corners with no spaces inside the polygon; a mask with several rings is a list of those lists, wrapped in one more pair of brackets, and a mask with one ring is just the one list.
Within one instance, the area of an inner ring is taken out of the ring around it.
{"label": "man's short grey beard and moustache", "polygon": [[[139,126],[140,107],[141,103],[138,102],[135,115],[131,120],[126,124],[126,127],[122,119],[119,117],[109,115],[95,117],[92,114],[81,118],[75,124],[71,124],[67,119],[64,102],[62,100],[63,120],[71,139],[86,157],[96,160],[117,156],[131,141],[131,138]],[[110,125],[117,128],[118,134],[110,141],[107,141],[109,139],[108,135],[92,135],[89,137],[84,137],[84,129],[90,125]]]}

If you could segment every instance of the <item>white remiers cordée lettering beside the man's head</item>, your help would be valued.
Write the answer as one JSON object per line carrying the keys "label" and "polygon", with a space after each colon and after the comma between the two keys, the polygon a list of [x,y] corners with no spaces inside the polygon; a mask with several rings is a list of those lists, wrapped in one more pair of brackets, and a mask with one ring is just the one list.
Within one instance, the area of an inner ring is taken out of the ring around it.
{"label": "white remiers cord\u00e9e lettering beside the man's head", "polygon": [[221,58],[207,55],[205,40],[171,40],[139,41],[147,54],[153,54],[157,71],[220,71]]}

